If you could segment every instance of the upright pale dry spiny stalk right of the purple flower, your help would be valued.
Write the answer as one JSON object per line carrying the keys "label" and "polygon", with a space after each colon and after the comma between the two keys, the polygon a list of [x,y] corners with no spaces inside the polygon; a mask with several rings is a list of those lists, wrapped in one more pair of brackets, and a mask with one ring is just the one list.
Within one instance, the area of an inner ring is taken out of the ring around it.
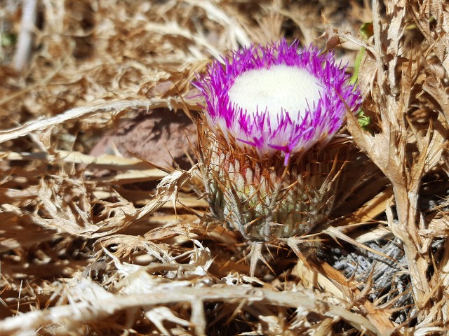
{"label": "upright pale dry spiny stalk right of the purple flower", "polygon": [[[422,66],[413,61],[414,55],[403,55],[401,50],[407,25],[407,6],[410,4],[405,0],[386,1],[388,23],[382,24],[379,3],[373,1],[373,49],[361,64],[359,79],[362,92],[373,102],[364,109],[374,110],[381,132],[373,137],[361,130],[354,116],[349,114],[348,119],[356,144],[368,153],[391,181],[398,221],[395,222],[391,211],[387,211],[389,228],[403,242],[415,303],[422,321],[431,308],[427,277],[430,260],[427,246],[420,236],[424,222],[418,209],[418,191],[422,176],[441,158],[444,140],[431,122],[423,137],[408,120],[415,99],[410,92],[421,84],[418,83],[418,75]],[[406,59],[407,56],[410,59]],[[403,64],[408,66],[401,73],[399,66]],[[417,150],[410,155],[406,148],[414,142]]]}

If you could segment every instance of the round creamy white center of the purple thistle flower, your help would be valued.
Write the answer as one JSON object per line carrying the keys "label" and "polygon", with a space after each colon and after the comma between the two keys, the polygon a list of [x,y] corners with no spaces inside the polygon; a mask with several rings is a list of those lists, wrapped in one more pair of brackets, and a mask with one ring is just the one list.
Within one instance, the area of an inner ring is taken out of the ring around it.
{"label": "round creamy white center of the purple thistle flower", "polygon": [[309,71],[281,64],[241,73],[229,90],[229,100],[247,113],[267,109],[271,124],[276,126],[283,111],[292,120],[304,118],[307,108],[318,102],[321,86]]}

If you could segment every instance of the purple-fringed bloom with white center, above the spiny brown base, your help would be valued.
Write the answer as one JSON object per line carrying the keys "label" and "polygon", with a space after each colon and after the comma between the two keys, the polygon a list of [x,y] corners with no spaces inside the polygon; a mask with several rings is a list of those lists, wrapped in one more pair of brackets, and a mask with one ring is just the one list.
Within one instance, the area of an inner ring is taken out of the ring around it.
{"label": "purple-fringed bloom with white center, above the spiny brown base", "polygon": [[206,98],[208,124],[261,157],[281,151],[287,163],[290,155],[333,137],[347,106],[355,112],[361,102],[345,66],[312,46],[282,39],[243,48],[222,62],[215,60],[194,83]]}

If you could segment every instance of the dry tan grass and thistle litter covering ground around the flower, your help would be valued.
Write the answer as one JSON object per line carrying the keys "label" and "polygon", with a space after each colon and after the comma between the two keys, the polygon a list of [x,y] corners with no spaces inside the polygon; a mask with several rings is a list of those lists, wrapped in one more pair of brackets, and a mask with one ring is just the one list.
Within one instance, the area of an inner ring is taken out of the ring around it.
{"label": "dry tan grass and thistle litter covering ground around the flower", "polygon": [[[21,9],[0,7],[1,335],[445,335],[445,1],[42,0],[31,34]],[[196,120],[197,71],[282,36],[355,65],[373,120],[365,130],[349,116],[342,132],[361,153],[311,235],[251,251],[210,216],[192,154],[180,170],[139,148],[93,151],[155,111]],[[378,259],[347,274],[337,250]],[[255,276],[248,253],[265,261]],[[382,263],[392,273],[378,290]]]}

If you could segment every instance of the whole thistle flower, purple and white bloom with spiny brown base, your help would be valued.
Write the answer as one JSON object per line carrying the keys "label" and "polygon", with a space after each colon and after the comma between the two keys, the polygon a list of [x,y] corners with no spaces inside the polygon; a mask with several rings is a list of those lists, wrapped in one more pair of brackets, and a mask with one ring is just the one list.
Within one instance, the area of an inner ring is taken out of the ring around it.
{"label": "whole thistle flower, purple and white bloom with spiny brown base", "polygon": [[199,148],[213,213],[248,239],[308,232],[332,208],[342,148],[329,143],[360,94],[332,54],[285,40],[222,61],[195,83],[206,99]]}

